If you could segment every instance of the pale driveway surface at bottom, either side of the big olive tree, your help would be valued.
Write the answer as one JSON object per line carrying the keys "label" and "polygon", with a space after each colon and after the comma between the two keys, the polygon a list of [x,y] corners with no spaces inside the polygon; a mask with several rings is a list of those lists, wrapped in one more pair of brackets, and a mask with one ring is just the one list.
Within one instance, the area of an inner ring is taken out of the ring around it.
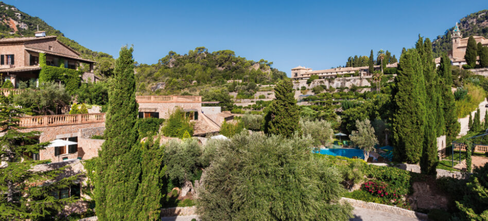
{"label": "pale driveway surface at bottom, either side of the big olive tree", "polygon": [[[419,221],[420,219],[405,217],[401,215],[395,215],[389,212],[377,211],[372,209],[365,209],[360,207],[354,208],[354,218],[351,221]],[[186,216],[171,216],[162,217],[161,221],[191,221],[192,218],[197,220],[196,215],[186,215]]]}

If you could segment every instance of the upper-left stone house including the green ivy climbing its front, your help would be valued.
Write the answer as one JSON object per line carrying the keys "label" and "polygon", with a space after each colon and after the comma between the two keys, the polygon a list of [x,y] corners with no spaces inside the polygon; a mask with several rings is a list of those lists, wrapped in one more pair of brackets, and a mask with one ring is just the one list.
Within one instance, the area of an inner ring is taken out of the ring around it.
{"label": "upper-left stone house including the green ivy climbing its front", "polygon": [[[83,63],[83,65],[81,64]],[[82,81],[96,81],[94,61],[56,40],[56,36],[0,39],[0,75],[10,80],[14,88],[21,82],[38,87],[43,82],[59,82],[69,92],[78,89]]]}

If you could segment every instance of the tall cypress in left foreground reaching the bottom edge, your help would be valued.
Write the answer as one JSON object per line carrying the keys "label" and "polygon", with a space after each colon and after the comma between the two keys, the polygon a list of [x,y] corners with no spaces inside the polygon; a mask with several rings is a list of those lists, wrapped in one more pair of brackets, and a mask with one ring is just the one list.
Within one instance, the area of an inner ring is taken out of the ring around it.
{"label": "tall cypress in left foreground reaching the bottom edge", "polygon": [[136,220],[131,213],[140,183],[133,48],[121,48],[115,62],[105,117],[106,140],[99,152],[95,200],[98,220]]}

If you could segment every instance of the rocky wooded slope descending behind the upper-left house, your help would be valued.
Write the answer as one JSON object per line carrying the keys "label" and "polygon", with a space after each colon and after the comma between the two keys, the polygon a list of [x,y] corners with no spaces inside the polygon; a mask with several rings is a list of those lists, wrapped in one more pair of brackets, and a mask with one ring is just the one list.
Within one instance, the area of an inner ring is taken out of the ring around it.
{"label": "rocky wooded slope descending behind the upper-left house", "polygon": [[58,36],[57,40],[80,52],[82,57],[97,61],[96,73],[110,75],[113,69],[114,59],[112,55],[92,51],[78,42],[64,37],[61,31],[48,25],[39,17],[32,17],[15,6],[4,2],[0,2],[0,17],[3,18],[0,20],[0,38],[33,37],[37,27],[39,27],[40,31],[46,31],[46,35]]}

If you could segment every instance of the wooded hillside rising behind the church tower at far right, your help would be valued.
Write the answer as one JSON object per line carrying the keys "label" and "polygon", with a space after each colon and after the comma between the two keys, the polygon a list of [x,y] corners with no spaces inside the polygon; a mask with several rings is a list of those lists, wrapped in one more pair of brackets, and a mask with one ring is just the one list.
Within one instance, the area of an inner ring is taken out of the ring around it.
{"label": "wooded hillside rising behind the church tower at far right", "polygon": [[[472,13],[459,21],[459,29],[464,38],[473,35],[488,38],[488,10]],[[454,24],[446,30],[444,35],[439,35],[434,40],[433,50],[435,57],[440,57],[442,53],[447,53],[452,50],[451,35],[453,29]]]}

